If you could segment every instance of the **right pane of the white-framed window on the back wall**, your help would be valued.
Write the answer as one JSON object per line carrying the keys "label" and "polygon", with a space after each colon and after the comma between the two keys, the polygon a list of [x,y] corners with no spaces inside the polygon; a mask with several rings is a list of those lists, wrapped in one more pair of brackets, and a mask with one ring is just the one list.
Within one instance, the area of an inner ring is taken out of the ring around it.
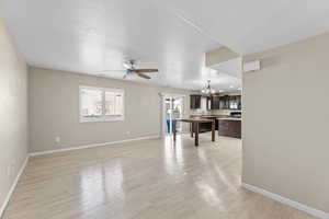
{"label": "right pane of the white-framed window on the back wall", "polygon": [[123,94],[117,92],[105,92],[105,115],[123,115]]}

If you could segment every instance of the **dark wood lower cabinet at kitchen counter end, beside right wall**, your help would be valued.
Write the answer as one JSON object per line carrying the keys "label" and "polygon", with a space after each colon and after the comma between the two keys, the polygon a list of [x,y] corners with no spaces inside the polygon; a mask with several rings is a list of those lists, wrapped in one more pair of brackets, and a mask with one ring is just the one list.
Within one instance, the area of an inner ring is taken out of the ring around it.
{"label": "dark wood lower cabinet at kitchen counter end, beside right wall", "polygon": [[218,135],[241,138],[241,120],[218,119]]}

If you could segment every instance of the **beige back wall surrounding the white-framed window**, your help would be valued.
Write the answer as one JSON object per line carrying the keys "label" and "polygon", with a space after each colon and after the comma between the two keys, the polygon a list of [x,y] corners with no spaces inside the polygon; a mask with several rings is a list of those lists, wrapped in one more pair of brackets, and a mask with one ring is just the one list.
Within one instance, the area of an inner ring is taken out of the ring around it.
{"label": "beige back wall surrounding the white-framed window", "polygon": [[[30,68],[29,76],[31,152],[158,136],[159,92],[186,94],[190,113],[190,92],[183,90],[39,68]],[[79,85],[124,89],[124,122],[79,123]]]}

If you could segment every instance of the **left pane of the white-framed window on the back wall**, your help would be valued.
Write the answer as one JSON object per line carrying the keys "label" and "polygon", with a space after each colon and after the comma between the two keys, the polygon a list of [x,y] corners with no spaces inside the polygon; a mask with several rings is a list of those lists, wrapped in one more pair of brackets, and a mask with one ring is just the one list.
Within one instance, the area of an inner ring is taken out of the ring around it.
{"label": "left pane of the white-framed window on the back wall", "polygon": [[84,117],[102,115],[102,91],[81,89],[81,114]]}

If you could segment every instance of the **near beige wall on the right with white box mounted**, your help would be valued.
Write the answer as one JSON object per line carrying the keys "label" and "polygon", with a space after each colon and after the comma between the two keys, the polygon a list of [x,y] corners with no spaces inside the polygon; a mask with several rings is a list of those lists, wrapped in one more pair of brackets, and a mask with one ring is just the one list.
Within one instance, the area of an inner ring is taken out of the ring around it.
{"label": "near beige wall on the right with white box mounted", "polygon": [[242,181],[329,212],[329,34],[245,57]]}

